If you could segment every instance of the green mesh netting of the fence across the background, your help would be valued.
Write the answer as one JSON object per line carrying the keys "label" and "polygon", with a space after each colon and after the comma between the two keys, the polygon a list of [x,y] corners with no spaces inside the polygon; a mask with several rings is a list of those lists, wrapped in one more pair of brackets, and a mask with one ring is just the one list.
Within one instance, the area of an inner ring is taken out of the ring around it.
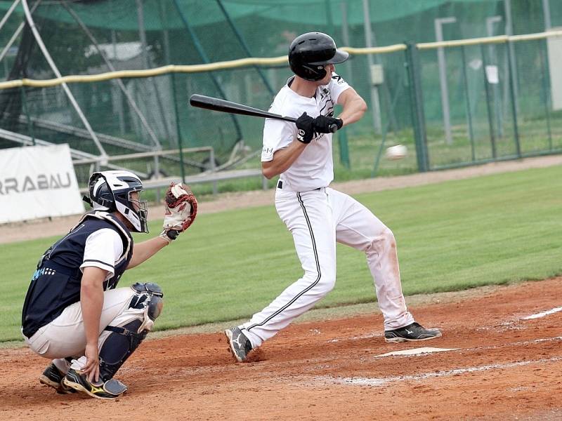
{"label": "green mesh netting of the fence across the background", "polygon": [[[8,11],[12,3],[0,0],[0,11]],[[367,45],[362,0],[28,3],[35,9],[37,28],[63,75],[194,65],[248,56],[277,57],[287,54],[294,36],[317,30],[331,34],[339,46]],[[444,40],[507,31],[542,32],[543,5],[542,0],[367,1],[370,44],[436,41],[436,20],[451,17],[455,22],[440,25]],[[509,16],[507,6],[511,8]],[[562,1],[551,0],[549,7],[551,26],[562,26]],[[0,51],[22,20],[19,5],[0,29]],[[506,26],[508,20],[511,29]],[[425,169],[561,151],[562,116],[551,98],[551,79],[560,73],[549,70],[547,41],[513,43],[511,52],[507,44],[443,49],[451,141],[447,140],[443,118],[438,54],[437,49],[421,50],[419,62],[409,62],[405,51],[373,55],[371,62],[384,69],[384,82],[377,91],[370,83],[366,55],[353,55],[337,67],[370,109],[359,123],[336,135],[334,154],[336,160],[341,155],[342,161],[336,166],[336,178],[418,171],[415,152],[424,147],[429,161]],[[409,76],[409,66],[419,66],[419,86]],[[497,69],[498,83],[488,81],[487,66]],[[267,109],[290,74],[286,65],[244,67],[122,79],[124,91],[117,81],[72,83],[68,87],[107,154],[211,145],[216,163],[221,165],[233,161],[234,152],[259,153],[263,121],[192,108],[188,105],[190,95],[202,93]],[[1,80],[23,77],[55,77],[29,27],[0,62]],[[415,89],[421,92],[419,103],[412,102]],[[376,102],[379,117],[374,113]],[[416,107],[424,115],[424,138],[414,134],[417,122],[412,116],[417,113]],[[99,154],[62,86],[0,91],[0,128],[47,142],[67,142],[73,149]],[[394,143],[409,147],[407,159],[381,159],[384,147]],[[12,140],[0,139],[0,147],[15,145]],[[238,148],[240,145],[245,148]],[[209,166],[206,154],[185,159],[188,173]],[[153,170],[145,163],[123,165],[138,165],[139,171],[147,174]],[[257,167],[259,159],[255,157],[244,165]],[[178,156],[162,159],[161,168],[177,175]]]}

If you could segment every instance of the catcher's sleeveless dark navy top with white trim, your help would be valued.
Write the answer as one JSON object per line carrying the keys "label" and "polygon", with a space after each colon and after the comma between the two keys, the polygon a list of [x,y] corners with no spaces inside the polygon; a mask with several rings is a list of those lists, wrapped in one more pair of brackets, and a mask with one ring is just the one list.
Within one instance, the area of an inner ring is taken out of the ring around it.
{"label": "catcher's sleeveless dark navy top with white trim", "polygon": [[80,266],[84,262],[86,240],[94,232],[107,228],[119,234],[123,241],[123,253],[115,265],[109,262],[115,271],[110,279],[104,281],[103,289],[117,286],[131,261],[133,238],[129,229],[110,213],[86,213],[66,236],[48,248],[37,265],[22,310],[22,332],[27,338],[60,316],[66,307],[80,300]]}

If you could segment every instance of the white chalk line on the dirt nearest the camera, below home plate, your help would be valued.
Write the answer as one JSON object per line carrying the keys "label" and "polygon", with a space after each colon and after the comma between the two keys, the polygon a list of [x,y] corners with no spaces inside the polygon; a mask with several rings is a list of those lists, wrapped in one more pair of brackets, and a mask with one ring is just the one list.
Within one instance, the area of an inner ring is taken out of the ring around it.
{"label": "white chalk line on the dirt nearest the camera, below home plate", "polygon": [[553,356],[550,359],[539,359],[530,361],[518,361],[516,363],[505,363],[505,364],[491,364],[490,366],[479,366],[479,367],[468,367],[468,368],[456,368],[455,370],[440,371],[438,373],[422,373],[418,375],[403,375],[400,377],[381,377],[381,378],[369,378],[369,377],[316,377],[318,380],[324,380],[327,382],[337,383],[340,385],[358,385],[358,386],[383,386],[391,382],[403,382],[406,380],[425,380],[431,377],[446,377],[457,374],[464,373],[474,373],[476,371],[494,370],[497,368],[511,368],[518,366],[528,366],[529,364],[539,364],[539,363],[549,363],[552,361],[562,361],[562,356]]}

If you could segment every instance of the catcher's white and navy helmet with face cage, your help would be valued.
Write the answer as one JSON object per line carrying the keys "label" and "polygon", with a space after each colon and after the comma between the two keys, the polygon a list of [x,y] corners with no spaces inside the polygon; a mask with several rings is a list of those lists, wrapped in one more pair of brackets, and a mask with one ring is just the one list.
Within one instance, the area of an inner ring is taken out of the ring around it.
{"label": "catcher's white and navy helmet with face cage", "polygon": [[136,232],[148,232],[146,201],[135,201],[138,206],[136,210],[131,200],[132,192],[142,192],[143,189],[141,179],[129,171],[101,171],[90,176],[89,198],[85,197],[84,200],[94,210],[117,210],[131,222]]}

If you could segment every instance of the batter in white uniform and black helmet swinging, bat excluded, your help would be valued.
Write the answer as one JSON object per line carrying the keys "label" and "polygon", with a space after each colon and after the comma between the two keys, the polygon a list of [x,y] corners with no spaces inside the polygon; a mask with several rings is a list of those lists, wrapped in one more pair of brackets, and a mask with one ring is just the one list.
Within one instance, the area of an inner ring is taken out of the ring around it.
{"label": "batter in white uniform and black helmet swinging, bat excluded", "polygon": [[[334,65],[348,53],[319,32],[296,37],[289,47],[294,76],[283,86],[270,112],[298,119],[296,124],[266,119],[262,171],[279,175],[275,208],[292,233],[303,276],[261,312],[241,326],[225,330],[230,352],[244,361],[251,349],[273,337],[329,293],[336,282],[336,242],[362,250],[367,257],[386,342],[431,340],[438,329],[426,329],[407,311],[393,233],[351,196],[329,187],[334,179],[332,131],[358,121],[365,101]],[[343,111],[334,117],[334,107]]]}

